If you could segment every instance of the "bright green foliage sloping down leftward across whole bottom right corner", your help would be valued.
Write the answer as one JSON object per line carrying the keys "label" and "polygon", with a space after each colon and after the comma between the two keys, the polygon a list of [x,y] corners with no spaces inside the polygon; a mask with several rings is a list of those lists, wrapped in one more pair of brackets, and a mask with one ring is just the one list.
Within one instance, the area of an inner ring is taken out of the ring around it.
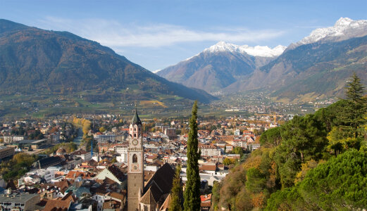
{"label": "bright green foliage sloping down leftward across whole bottom right corner", "polygon": [[362,210],[367,154],[349,150],[309,170],[303,181],[271,195],[266,210]]}

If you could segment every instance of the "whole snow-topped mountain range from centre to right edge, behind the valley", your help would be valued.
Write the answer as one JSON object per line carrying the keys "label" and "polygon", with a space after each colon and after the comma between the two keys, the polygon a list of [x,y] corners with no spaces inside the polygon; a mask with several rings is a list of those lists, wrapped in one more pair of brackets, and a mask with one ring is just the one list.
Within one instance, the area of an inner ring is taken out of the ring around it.
{"label": "whole snow-topped mountain range from centre to right edge, behind the valley", "polygon": [[290,46],[237,46],[220,41],[157,75],[209,93],[268,91],[281,101],[341,96],[347,79],[367,75],[367,20],[340,18]]}

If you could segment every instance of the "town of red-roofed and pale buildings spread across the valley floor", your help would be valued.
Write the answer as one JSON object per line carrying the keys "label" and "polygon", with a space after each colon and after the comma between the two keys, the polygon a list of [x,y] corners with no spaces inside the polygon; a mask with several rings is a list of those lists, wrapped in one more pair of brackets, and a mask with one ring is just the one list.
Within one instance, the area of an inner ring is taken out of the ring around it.
{"label": "town of red-roofed and pale buildings spread across the valley floor", "polygon": [[[256,114],[247,118],[202,117],[198,120],[201,210],[211,207],[213,184],[260,147],[261,132],[290,118],[292,116]],[[137,119],[138,131],[142,131],[142,154],[138,155],[143,155],[144,170],[141,167],[139,170],[144,174],[145,194],[137,197],[136,203],[140,207],[167,210],[176,167],[181,167],[183,184],[187,181],[189,122],[173,118],[140,120],[137,113],[132,120],[119,115],[85,115],[2,122],[2,208],[126,209],[129,160],[139,160],[129,158],[129,150],[135,145],[129,141],[132,139],[130,128]],[[134,183],[134,186],[139,184]]]}

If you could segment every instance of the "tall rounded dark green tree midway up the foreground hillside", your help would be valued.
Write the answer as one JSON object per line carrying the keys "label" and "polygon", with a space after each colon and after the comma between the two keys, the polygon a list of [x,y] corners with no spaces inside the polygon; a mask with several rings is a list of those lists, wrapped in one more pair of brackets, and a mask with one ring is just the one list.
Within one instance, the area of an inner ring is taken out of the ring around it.
{"label": "tall rounded dark green tree midway up the foreground hillside", "polygon": [[313,115],[294,117],[281,128],[282,143],[278,146],[275,162],[278,165],[282,187],[294,184],[301,163],[319,160],[328,144],[323,124]]}

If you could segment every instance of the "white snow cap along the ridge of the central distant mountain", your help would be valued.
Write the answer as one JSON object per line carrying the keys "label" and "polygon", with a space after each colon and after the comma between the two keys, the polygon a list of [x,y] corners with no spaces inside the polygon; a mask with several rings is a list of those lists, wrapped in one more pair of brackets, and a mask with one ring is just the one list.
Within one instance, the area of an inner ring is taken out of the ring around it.
{"label": "white snow cap along the ridge of the central distant mountain", "polygon": [[270,49],[268,46],[238,46],[235,44],[226,43],[225,41],[219,41],[217,44],[210,46],[208,49],[204,49],[204,52],[216,53],[216,52],[237,52],[237,53],[247,53],[251,56],[261,56],[261,57],[275,57],[279,56],[286,49],[286,46],[276,46]]}

